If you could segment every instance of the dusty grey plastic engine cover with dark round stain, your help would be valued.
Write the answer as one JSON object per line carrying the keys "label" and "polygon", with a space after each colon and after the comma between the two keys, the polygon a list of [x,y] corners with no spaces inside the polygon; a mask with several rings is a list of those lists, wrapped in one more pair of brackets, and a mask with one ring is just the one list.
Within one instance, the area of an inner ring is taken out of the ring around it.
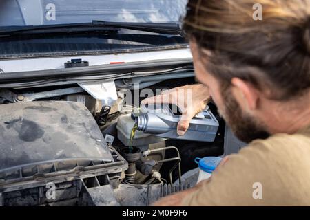
{"label": "dusty grey plastic engine cover with dark round stain", "polygon": [[93,116],[79,102],[0,106],[0,172],[44,162],[113,162]]}

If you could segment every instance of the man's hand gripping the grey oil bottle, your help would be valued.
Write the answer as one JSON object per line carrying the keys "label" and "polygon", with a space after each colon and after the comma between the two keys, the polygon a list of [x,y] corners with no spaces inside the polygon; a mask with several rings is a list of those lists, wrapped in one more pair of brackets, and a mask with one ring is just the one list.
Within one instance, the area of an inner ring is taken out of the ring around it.
{"label": "man's hand gripping the grey oil bottle", "polygon": [[163,91],[161,95],[146,98],[141,104],[175,104],[182,111],[178,135],[184,135],[192,118],[203,111],[210,100],[209,89],[202,84],[185,85]]}

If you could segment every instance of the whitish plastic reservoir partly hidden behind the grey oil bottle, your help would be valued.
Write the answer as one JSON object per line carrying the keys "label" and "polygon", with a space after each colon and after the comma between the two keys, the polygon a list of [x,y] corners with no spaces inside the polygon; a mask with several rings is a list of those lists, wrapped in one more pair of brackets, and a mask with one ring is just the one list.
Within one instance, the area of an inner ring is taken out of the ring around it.
{"label": "whitish plastic reservoir partly hidden behind the grey oil bottle", "polygon": [[[117,137],[125,146],[130,145],[130,135],[132,133],[132,128],[134,127],[134,120],[131,117],[131,114],[121,115],[118,118],[116,129]],[[132,146],[148,146],[148,144],[154,144],[157,142],[163,142],[165,138],[156,137],[144,133],[143,131],[136,131],[134,134],[134,140]]]}

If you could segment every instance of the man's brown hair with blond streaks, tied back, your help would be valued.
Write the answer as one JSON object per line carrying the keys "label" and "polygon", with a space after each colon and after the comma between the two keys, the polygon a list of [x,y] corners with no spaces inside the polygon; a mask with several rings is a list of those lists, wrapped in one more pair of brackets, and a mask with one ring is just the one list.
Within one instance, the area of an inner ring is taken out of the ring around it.
{"label": "man's brown hair with blond streaks, tied back", "polygon": [[183,29],[223,84],[242,78],[276,100],[309,91],[310,0],[189,0]]}

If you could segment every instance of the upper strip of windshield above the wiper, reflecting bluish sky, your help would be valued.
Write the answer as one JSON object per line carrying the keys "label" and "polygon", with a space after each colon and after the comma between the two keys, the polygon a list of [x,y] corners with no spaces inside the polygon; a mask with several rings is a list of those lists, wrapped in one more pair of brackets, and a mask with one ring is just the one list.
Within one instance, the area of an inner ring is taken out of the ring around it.
{"label": "upper strip of windshield above the wiper, reflecting bluish sky", "polygon": [[0,26],[83,23],[92,20],[172,23],[187,0],[1,0]]}

